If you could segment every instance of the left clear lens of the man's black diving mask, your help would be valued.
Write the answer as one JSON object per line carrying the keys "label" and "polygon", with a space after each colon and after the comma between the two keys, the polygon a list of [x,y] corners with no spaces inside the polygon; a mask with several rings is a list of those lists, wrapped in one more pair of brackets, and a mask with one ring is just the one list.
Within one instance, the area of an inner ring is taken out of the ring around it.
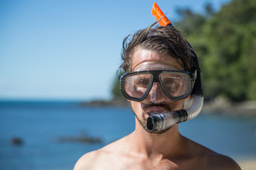
{"label": "left clear lens of the man's black diving mask", "polygon": [[148,73],[127,75],[124,80],[125,93],[132,98],[143,98],[152,81],[152,75]]}

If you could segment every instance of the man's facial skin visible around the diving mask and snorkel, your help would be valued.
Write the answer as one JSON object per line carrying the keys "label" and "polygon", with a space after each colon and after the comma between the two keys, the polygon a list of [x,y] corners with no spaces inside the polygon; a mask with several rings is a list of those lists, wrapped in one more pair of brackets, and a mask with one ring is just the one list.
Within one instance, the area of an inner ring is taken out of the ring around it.
{"label": "man's facial skin visible around the diving mask and snorkel", "polygon": [[[182,70],[177,60],[169,55],[161,56],[154,51],[137,48],[132,58],[132,72],[142,70],[177,69]],[[184,100],[171,101],[161,89],[159,82],[154,82],[151,91],[143,101],[131,101],[132,111],[139,123],[146,129],[146,119],[151,112],[162,113],[183,108]]]}

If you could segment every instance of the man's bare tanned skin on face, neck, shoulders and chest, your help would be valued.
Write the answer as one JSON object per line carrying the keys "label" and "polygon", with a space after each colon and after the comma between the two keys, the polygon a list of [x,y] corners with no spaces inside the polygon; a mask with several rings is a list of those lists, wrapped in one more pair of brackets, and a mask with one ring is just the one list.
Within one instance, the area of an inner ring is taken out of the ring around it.
{"label": "man's bare tanned skin on face, neck, shoulders and chest", "polygon": [[[141,64],[168,64],[182,70],[180,64],[169,55],[161,56],[150,50],[137,48],[132,60],[132,71]],[[84,169],[186,169],[186,170],[239,170],[240,166],[230,157],[213,152],[178,132],[178,124],[169,130],[151,133],[145,130],[151,111],[174,111],[183,108],[184,101],[171,101],[163,95],[158,83],[144,101],[131,101],[136,115],[134,132],[116,142],[82,156],[74,170]],[[158,85],[157,85],[158,84]],[[151,103],[151,93],[157,104]],[[161,104],[159,104],[161,103]]]}

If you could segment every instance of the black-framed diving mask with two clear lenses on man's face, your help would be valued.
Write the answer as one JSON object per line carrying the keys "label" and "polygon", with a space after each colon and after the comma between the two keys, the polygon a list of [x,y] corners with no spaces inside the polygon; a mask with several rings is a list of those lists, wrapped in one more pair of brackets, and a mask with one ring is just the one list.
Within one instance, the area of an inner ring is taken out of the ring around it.
{"label": "black-framed diving mask with two clear lenses on man's face", "polygon": [[119,77],[119,85],[124,96],[132,101],[143,101],[154,83],[159,83],[164,94],[172,101],[186,98],[193,89],[196,72],[176,69],[143,70],[124,73]]}

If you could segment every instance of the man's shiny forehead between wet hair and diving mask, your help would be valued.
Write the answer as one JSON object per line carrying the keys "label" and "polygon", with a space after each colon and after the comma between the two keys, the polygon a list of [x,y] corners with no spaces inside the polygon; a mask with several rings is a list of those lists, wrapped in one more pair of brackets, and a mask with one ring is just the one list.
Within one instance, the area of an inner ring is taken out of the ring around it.
{"label": "man's shiny forehead between wet hair and diving mask", "polygon": [[135,69],[141,67],[144,64],[149,65],[149,68],[151,64],[165,64],[173,69],[183,69],[176,60],[176,58],[171,57],[168,54],[160,55],[157,52],[151,50],[137,48],[132,57],[132,72],[134,72]]}

